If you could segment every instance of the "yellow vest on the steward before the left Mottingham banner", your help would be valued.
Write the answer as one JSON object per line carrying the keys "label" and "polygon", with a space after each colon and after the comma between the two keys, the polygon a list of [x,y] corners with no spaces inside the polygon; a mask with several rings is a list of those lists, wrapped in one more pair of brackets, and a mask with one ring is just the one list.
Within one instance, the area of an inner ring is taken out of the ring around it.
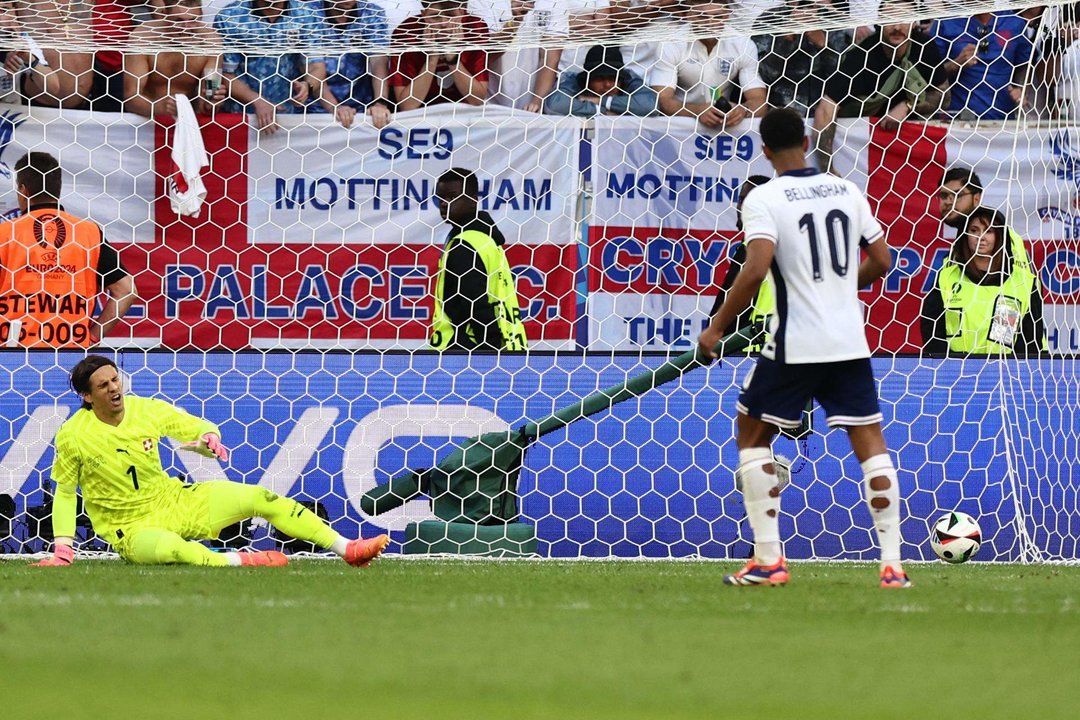
{"label": "yellow vest on the steward before the left Mottingham banner", "polygon": [[469,243],[480,256],[487,273],[487,299],[495,311],[495,318],[502,335],[502,350],[521,351],[528,349],[525,337],[525,325],[522,323],[522,311],[517,304],[517,288],[514,275],[510,271],[507,254],[487,233],[478,230],[465,230],[450,237],[438,260],[438,277],[435,281],[435,312],[431,321],[431,347],[435,350],[446,350],[455,338],[455,332],[463,332],[469,341],[465,347],[475,345],[482,338],[482,330],[467,324],[464,327],[454,327],[443,309],[444,286],[446,279],[446,259],[455,243]]}

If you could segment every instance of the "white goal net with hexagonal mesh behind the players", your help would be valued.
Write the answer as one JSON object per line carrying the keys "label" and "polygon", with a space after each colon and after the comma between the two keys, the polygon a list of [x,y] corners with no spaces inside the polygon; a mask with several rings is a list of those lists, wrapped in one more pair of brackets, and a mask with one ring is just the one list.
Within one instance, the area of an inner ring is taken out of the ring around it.
{"label": "white goal net with hexagonal mesh behind the players", "polygon": [[[742,257],[740,195],[773,175],[759,117],[788,107],[892,249],[861,297],[905,559],[932,557],[954,510],[982,526],[977,559],[1080,558],[1072,4],[21,0],[0,38],[0,210],[43,207],[25,153],[59,161],[64,210],[102,228],[137,294],[98,352],[233,448],[163,445],[188,481],[262,485],[397,552],[745,557],[752,351],[538,438],[521,467],[492,460],[494,489],[387,483],[693,349]],[[450,167],[477,179],[471,274],[444,258]],[[49,545],[52,440],[90,344],[65,236],[16,241],[0,235],[5,554]],[[510,302],[489,286],[500,254],[527,350],[432,349],[436,315],[459,322],[448,284],[478,294],[467,308]],[[91,270],[94,313],[116,275]],[[771,312],[762,296],[741,324]],[[787,556],[875,558],[859,463],[821,409],[775,450]],[[106,549],[85,518],[78,542]]]}

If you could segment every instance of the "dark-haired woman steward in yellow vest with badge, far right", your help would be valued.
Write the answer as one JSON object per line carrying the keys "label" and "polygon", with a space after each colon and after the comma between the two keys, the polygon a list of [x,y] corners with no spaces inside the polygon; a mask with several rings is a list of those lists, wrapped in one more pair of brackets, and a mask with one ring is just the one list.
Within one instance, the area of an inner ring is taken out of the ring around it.
{"label": "dark-haired woman steward in yellow vest with badge, far right", "polygon": [[922,347],[930,353],[1028,355],[1048,349],[1042,289],[1023,241],[1004,216],[976,208],[922,303]]}

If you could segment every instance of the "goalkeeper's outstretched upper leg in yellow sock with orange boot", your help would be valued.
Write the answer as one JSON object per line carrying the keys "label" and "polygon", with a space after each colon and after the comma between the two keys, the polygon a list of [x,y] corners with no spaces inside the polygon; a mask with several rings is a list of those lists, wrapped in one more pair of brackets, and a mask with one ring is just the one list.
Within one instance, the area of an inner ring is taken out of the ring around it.
{"label": "goalkeeper's outstretched upper leg in yellow sock with orange boot", "polygon": [[204,488],[210,501],[210,530],[213,536],[234,522],[261,517],[291,538],[333,551],[354,566],[366,566],[390,543],[387,535],[348,540],[300,503],[257,485],[219,480],[201,483],[200,487]]}

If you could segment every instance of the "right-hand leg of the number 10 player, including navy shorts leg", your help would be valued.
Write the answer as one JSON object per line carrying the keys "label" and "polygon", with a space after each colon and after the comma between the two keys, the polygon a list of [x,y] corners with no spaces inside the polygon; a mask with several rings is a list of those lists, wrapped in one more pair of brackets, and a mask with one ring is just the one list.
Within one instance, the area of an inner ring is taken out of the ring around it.
{"label": "right-hand leg of the number 10 player, including navy shorts leg", "polygon": [[[842,366],[842,367],[841,367]],[[818,397],[831,427],[848,431],[863,468],[863,487],[881,547],[881,585],[908,587],[900,562],[900,483],[881,432],[881,408],[869,359],[838,363]]]}

